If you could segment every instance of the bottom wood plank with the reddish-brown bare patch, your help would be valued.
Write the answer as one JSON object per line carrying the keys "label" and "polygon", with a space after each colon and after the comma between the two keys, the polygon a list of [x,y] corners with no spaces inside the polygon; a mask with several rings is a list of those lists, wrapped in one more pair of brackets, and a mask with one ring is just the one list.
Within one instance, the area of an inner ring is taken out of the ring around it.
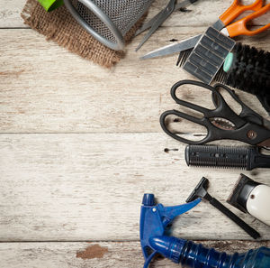
{"label": "bottom wood plank with the reddish-brown bare patch", "polygon": [[[198,241],[228,253],[245,252],[270,242],[248,241]],[[3,267],[13,268],[85,268],[143,266],[139,242],[98,243],[2,243],[0,261]],[[161,257],[151,267],[181,268],[180,265]]]}

